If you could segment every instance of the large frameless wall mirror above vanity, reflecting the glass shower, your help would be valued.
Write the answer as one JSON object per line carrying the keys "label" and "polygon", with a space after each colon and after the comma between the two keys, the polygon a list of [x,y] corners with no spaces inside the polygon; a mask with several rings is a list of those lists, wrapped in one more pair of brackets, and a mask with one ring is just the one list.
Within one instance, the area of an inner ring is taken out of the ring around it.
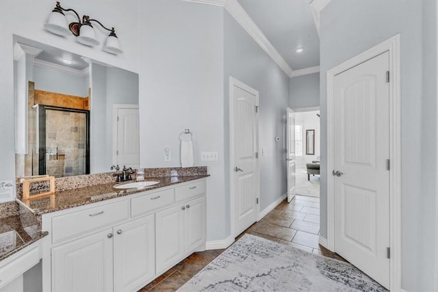
{"label": "large frameless wall mirror above vanity, reflecting the glass shower", "polygon": [[16,176],[139,166],[138,74],[14,36]]}

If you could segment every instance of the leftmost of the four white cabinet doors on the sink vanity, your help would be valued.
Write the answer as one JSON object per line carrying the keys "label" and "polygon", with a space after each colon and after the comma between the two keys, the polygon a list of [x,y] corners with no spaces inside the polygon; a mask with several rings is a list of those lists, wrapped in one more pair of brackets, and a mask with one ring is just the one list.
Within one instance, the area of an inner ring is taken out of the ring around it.
{"label": "leftmost of the four white cabinet doors on the sink vanity", "polygon": [[112,243],[108,229],[53,248],[52,291],[112,291]]}

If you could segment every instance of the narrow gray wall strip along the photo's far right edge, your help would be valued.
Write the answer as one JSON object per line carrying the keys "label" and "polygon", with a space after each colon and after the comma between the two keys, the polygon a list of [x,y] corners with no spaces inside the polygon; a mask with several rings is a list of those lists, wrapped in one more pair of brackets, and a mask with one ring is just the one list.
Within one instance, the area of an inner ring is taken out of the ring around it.
{"label": "narrow gray wall strip along the photo's far right edge", "polygon": [[[423,3],[422,278],[419,289],[438,291],[437,2]],[[434,256],[435,255],[435,256]]]}

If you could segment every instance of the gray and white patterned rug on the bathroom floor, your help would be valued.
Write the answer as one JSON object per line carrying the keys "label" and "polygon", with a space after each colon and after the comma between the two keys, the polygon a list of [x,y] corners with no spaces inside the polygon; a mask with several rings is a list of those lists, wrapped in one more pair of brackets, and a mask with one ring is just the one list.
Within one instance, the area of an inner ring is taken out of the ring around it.
{"label": "gray and white patterned rug on the bathroom floor", "polygon": [[244,235],[178,291],[387,291],[359,269]]}

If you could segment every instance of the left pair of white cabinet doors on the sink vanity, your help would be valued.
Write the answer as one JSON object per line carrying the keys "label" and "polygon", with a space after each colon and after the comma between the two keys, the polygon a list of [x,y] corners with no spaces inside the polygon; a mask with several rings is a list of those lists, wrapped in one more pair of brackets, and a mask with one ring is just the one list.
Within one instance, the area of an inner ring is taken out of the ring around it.
{"label": "left pair of white cabinet doors on the sink vanity", "polygon": [[133,291],[155,276],[154,216],[52,249],[52,291]]}

